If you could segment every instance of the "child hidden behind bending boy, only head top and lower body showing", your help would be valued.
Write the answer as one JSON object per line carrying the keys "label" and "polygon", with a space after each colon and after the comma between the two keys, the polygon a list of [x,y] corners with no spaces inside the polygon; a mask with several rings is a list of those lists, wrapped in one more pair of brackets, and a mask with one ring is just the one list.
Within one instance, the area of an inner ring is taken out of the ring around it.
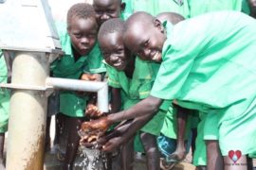
{"label": "child hidden behind bending boy, only head top and lower body showing", "polygon": [[[173,25],[185,20],[183,16],[174,12],[162,12],[155,18],[157,18],[162,24],[168,21]],[[174,104],[166,113],[164,124],[161,129],[162,135],[158,137],[159,149],[166,157],[166,159],[161,159],[160,161],[162,168],[170,169],[175,162],[185,159],[185,133],[186,138],[188,139],[188,132],[190,132],[192,119],[192,117],[189,119],[187,118],[188,113],[190,113],[191,116],[192,110],[180,108]],[[189,147],[190,145],[187,144],[187,152]]]}

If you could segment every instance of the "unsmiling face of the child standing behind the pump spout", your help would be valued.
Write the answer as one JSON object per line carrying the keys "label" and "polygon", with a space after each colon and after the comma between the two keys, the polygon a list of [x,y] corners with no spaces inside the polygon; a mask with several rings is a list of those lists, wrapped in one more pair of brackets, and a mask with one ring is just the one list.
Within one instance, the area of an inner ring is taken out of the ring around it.
{"label": "unsmiling face of the child standing behind the pump spout", "polygon": [[97,30],[98,25],[95,18],[72,18],[68,34],[73,48],[81,56],[87,55],[93,48],[97,38]]}

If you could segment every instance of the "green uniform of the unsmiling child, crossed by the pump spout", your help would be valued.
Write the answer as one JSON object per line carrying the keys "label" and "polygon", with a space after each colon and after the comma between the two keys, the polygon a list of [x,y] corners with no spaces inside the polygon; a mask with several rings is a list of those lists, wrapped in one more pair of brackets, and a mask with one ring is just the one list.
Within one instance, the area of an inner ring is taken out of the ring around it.
{"label": "green uniform of the unsmiling child, crossed by the pump spout", "polygon": [[[95,44],[87,56],[82,56],[75,61],[71,48],[71,40],[67,34],[65,24],[57,23],[56,26],[62,42],[64,56],[51,64],[53,76],[80,79],[82,73],[96,74],[105,72],[105,67],[101,62],[102,57],[98,43]],[[79,96],[76,92],[61,92],[60,111],[71,117],[82,117],[84,116],[87,99],[85,96]]]}

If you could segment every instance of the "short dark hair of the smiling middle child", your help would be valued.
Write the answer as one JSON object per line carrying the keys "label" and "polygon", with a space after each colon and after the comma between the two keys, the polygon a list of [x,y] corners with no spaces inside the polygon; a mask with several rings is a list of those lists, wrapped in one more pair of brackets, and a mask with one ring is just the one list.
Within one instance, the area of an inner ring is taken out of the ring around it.
{"label": "short dark hair of the smiling middle child", "polygon": [[122,21],[121,19],[113,18],[113,19],[107,20],[100,27],[100,30],[98,33],[98,39],[101,36],[104,36],[105,34],[123,32],[123,28],[124,28],[124,21]]}

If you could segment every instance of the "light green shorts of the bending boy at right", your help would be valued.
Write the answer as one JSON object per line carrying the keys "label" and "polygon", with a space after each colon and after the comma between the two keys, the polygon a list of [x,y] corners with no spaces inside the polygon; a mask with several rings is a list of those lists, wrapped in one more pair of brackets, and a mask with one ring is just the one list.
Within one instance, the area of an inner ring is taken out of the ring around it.
{"label": "light green shorts of the bending boy at right", "polygon": [[219,117],[219,144],[223,156],[230,150],[254,157],[256,153],[256,96],[223,110]]}

